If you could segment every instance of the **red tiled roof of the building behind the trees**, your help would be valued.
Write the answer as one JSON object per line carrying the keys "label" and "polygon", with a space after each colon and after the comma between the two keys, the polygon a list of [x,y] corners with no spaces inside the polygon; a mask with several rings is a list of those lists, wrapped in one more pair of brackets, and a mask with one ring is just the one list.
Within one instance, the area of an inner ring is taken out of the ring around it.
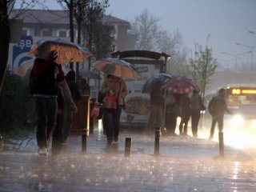
{"label": "red tiled roof of the building behind the trees", "polygon": [[[24,14],[18,16],[25,23],[48,23],[48,24],[69,24],[69,13],[66,10],[26,10]],[[105,15],[103,22],[111,24],[121,24],[130,26],[130,22],[126,22],[120,18],[111,15]]]}

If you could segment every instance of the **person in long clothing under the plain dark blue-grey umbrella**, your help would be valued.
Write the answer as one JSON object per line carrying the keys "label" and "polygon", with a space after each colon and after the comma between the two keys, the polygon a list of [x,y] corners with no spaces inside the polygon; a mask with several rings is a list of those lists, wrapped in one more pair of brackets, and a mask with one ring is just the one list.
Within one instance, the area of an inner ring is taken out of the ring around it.
{"label": "person in long clothing under the plain dark blue-grey umbrella", "polygon": [[156,80],[152,83],[150,89],[150,116],[146,123],[146,132],[154,132],[155,127],[165,128],[163,120],[163,111],[162,106],[165,102],[165,98],[162,96],[162,82]]}

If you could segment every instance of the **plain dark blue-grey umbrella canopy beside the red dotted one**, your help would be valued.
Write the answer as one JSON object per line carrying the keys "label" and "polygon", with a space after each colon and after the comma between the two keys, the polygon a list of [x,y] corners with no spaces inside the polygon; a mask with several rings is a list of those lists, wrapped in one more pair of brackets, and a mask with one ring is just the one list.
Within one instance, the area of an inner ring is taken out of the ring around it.
{"label": "plain dark blue-grey umbrella canopy beside the red dotted one", "polygon": [[160,82],[160,86],[164,85],[173,76],[171,74],[154,74],[152,77],[146,79],[142,86],[142,93],[149,93],[151,86],[155,85],[155,82]]}

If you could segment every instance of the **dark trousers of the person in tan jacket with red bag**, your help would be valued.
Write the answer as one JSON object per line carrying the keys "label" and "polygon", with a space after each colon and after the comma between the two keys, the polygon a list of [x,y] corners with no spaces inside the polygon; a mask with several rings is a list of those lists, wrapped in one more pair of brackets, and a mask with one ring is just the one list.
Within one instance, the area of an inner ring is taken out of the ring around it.
{"label": "dark trousers of the person in tan jacket with red bag", "polygon": [[121,106],[117,110],[104,110],[103,118],[106,118],[106,138],[108,142],[113,142],[113,138],[119,135],[121,112]]}

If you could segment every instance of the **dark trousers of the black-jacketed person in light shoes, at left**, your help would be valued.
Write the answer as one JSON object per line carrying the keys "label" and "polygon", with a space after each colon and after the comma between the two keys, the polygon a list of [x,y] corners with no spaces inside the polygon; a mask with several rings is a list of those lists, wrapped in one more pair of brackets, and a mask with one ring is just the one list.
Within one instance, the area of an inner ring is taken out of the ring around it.
{"label": "dark trousers of the black-jacketed person in light shoes, at left", "polygon": [[57,98],[35,97],[35,109],[38,116],[36,137],[38,147],[48,147],[50,134],[54,130],[58,102]]}

